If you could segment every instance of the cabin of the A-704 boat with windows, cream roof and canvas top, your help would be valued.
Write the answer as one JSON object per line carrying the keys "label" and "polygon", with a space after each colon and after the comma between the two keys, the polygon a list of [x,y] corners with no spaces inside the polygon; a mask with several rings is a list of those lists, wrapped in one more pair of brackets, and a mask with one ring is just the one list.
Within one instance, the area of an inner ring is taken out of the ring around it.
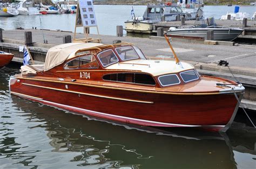
{"label": "cabin of the A-704 boat with windows, cream roof and canvas top", "polygon": [[[164,67],[164,68],[163,68]],[[178,66],[170,60],[148,60],[132,44],[103,45],[70,43],[49,49],[45,65],[21,67],[23,76],[97,81],[148,87],[172,87],[200,79],[190,64]]]}

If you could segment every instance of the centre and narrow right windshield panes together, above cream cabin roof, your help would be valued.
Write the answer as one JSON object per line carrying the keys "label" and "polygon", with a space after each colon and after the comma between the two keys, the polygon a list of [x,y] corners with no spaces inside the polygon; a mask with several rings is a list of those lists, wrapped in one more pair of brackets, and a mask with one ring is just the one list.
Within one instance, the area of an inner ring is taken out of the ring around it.
{"label": "centre and narrow right windshield panes together, above cream cabin roof", "polygon": [[117,47],[116,51],[119,55],[119,57],[122,60],[132,60],[132,59],[145,59],[144,54],[138,47],[131,47],[131,46],[123,46],[123,47]]}

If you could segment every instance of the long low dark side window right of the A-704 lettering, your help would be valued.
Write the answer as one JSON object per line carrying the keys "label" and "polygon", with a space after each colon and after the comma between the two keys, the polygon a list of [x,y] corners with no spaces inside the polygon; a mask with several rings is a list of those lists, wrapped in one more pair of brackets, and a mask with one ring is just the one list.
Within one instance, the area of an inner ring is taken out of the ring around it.
{"label": "long low dark side window right of the A-704 lettering", "polygon": [[149,74],[143,73],[113,73],[106,74],[103,76],[103,80],[126,82],[126,83],[137,83],[143,85],[156,85],[156,82]]}

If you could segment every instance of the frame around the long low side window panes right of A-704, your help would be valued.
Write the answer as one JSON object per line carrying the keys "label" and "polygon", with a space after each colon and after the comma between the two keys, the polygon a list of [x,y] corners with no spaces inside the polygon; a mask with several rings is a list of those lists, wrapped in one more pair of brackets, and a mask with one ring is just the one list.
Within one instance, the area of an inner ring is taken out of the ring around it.
{"label": "frame around the long low side window panes right of A-704", "polygon": [[[111,75],[111,74],[116,74],[117,75],[117,80],[105,80],[103,79],[103,77],[105,75]],[[133,74],[133,81],[135,81],[135,74],[145,74],[145,75],[149,75],[151,76],[151,78],[153,79],[154,81],[154,85],[151,85],[151,84],[146,84],[146,83],[136,83],[136,82],[126,82],[126,81],[118,81],[118,74]],[[129,83],[129,84],[133,84],[133,85],[142,85],[142,86],[156,86],[157,85],[157,81],[154,79],[154,77],[151,75],[151,74],[147,74],[147,73],[137,73],[137,72],[122,72],[122,73],[107,73],[107,74],[104,74],[102,76],[102,80],[104,81],[110,81],[110,82],[117,82],[117,83]]]}

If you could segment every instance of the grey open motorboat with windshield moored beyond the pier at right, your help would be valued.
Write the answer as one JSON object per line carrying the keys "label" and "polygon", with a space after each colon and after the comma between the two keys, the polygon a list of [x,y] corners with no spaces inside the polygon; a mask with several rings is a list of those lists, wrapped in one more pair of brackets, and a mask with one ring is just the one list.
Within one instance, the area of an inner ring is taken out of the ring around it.
{"label": "grey open motorboat with windshield moored beyond the pier at right", "polygon": [[166,32],[167,35],[180,36],[180,37],[200,37],[207,38],[207,31],[213,31],[213,40],[224,40],[231,41],[237,38],[241,33],[242,29],[217,26],[214,22],[214,18],[207,18],[207,24],[205,20],[200,20],[199,25],[195,23],[193,27],[170,27],[169,31]]}

